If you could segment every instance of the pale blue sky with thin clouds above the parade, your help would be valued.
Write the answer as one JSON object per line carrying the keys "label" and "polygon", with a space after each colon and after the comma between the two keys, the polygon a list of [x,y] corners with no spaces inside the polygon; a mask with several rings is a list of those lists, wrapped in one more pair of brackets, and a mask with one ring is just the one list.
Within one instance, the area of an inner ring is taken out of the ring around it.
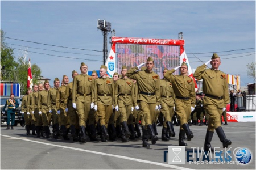
{"label": "pale blue sky with thin clouds above the parade", "polygon": [[183,32],[193,69],[217,53],[221,71],[240,75],[241,86],[255,83],[246,67],[255,61],[255,1],[1,1],[7,46],[16,58],[27,49],[26,59],[40,67],[51,86],[64,74],[72,80],[81,62],[88,71],[100,69],[98,19],[110,22],[117,37],[178,39]]}

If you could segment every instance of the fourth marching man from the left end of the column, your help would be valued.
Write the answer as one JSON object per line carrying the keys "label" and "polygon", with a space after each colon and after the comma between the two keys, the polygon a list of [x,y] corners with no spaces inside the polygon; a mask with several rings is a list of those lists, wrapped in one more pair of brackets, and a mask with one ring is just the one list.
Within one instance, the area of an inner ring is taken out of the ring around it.
{"label": "fourth marching man from the left end of the column", "polygon": [[49,89],[49,82],[46,80],[44,82],[44,90],[39,91],[38,94],[38,113],[42,117],[42,123],[44,126],[44,133],[45,137],[49,138],[50,130],[49,130],[49,120],[48,120],[48,114],[49,114],[49,108],[47,107],[47,97],[48,97],[48,89]]}

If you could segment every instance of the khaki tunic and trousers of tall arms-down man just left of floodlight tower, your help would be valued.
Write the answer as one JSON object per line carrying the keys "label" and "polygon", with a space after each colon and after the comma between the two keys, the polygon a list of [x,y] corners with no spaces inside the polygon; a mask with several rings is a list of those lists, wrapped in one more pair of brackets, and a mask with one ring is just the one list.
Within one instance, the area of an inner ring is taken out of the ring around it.
{"label": "khaki tunic and trousers of tall arms-down man just left of floodlight tower", "polygon": [[90,103],[93,102],[94,80],[92,76],[80,74],[73,79],[72,103],[76,103],[76,113],[79,117],[79,126],[85,126],[90,112]]}

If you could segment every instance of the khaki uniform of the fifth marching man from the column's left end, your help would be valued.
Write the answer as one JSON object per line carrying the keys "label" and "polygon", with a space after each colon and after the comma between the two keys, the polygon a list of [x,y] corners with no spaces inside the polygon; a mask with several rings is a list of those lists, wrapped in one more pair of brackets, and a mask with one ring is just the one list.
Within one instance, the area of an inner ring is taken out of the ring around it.
{"label": "khaki uniform of the fifth marching man from the column's left end", "polygon": [[59,115],[57,114],[57,108],[56,108],[56,94],[57,94],[57,88],[53,87],[48,92],[47,96],[47,106],[49,110],[52,110],[52,125],[58,124],[59,122]]}

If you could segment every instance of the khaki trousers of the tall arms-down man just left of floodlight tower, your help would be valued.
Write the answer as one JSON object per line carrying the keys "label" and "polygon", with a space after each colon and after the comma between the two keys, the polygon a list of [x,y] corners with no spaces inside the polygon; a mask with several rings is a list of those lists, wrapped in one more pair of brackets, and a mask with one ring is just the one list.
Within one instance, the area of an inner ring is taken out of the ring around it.
{"label": "khaki trousers of the tall arms-down man just left of floodlight tower", "polygon": [[76,114],[79,117],[79,126],[86,126],[90,112],[90,103],[76,101]]}

